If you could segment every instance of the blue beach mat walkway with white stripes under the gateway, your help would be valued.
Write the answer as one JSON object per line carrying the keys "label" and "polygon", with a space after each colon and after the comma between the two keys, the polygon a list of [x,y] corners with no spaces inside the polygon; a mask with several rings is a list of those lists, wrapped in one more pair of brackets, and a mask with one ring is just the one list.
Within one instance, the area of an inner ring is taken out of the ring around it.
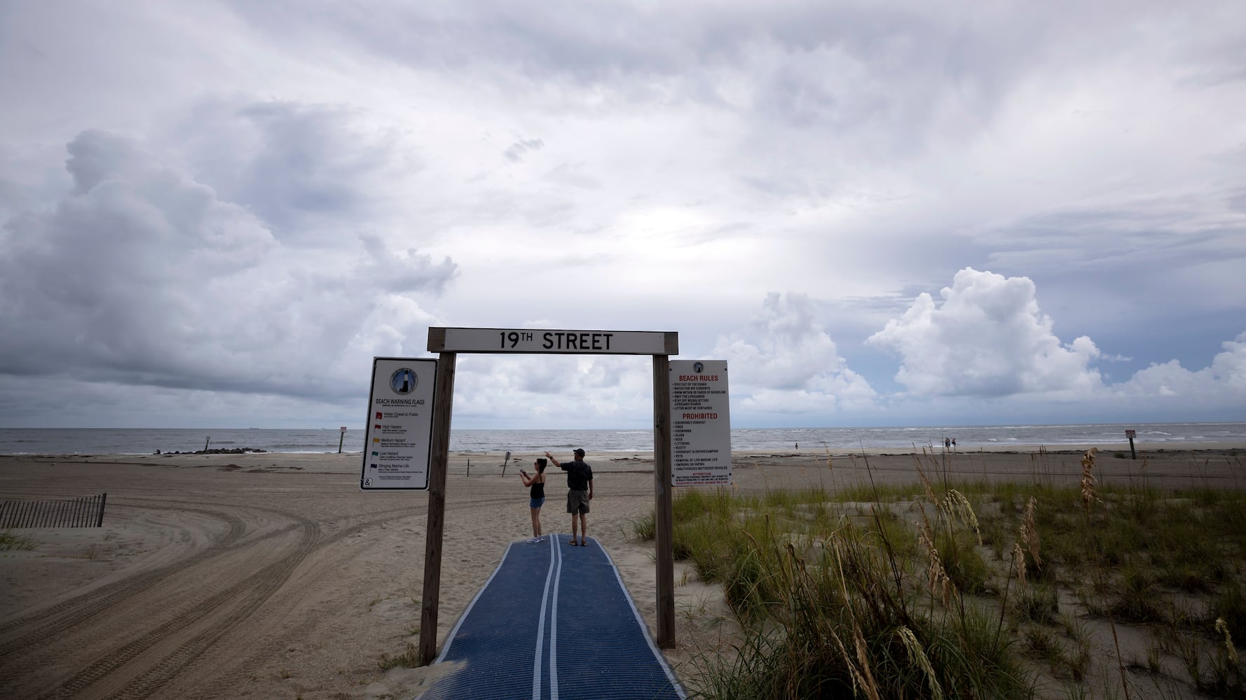
{"label": "blue beach mat walkway with white stripes under the gateway", "polygon": [[609,554],[568,534],[512,542],[434,661],[420,700],[682,700]]}

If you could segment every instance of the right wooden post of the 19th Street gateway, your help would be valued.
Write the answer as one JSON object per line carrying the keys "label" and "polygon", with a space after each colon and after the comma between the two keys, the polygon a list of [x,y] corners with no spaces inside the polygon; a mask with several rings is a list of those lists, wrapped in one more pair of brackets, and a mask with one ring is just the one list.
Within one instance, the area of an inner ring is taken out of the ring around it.
{"label": "right wooden post of the 19th Street gateway", "polygon": [[658,577],[658,646],[675,645],[674,514],[670,494],[670,359],[653,356],[653,526]]}

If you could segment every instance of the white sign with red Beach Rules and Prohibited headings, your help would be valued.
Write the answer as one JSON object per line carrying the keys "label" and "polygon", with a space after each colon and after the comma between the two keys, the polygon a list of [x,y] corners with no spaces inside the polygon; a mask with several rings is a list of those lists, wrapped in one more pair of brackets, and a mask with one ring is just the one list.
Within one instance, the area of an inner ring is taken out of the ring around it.
{"label": "white sign with red Beach Rules and Prohibited headings", "polygon": [[726,360],[670,360],[672,486],[731,483]]}

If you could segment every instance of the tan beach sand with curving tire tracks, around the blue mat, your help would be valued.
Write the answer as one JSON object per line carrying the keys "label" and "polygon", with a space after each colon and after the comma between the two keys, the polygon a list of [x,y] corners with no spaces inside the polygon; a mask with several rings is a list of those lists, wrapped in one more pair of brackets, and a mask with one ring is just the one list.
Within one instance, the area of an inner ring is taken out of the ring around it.
{"label": "tan beach sand with curving tire tracks, around the blue mat", "polygon": [[[591,446],[588,446],[591,447]],[[1082,450],[964,452],[791,450],[733,455],[738,492],[916,483],[933,477],[1075,485]],[[1099,453],[1103,483],[1246,488],[1244,445],[1119,446]],[[1232,452],[1236,450],[1236,455]],[[1116,458],[1121,455],[1126,458]],[[510,542],[531,536],[517,476],[537,455],[451,455],[439,648]],[[381,670],[416,644],[427,493],[361,493],[356,455],[0,456],[0,499],[107,493],[102,528],[24,528],[32,549],[0,551],[0,688],[5,698],[412,698],[430,668]],[[470,460],[470,466],[468,466]],[[592,455],[589,534],[619,567],[655,629],[653,543],[633,523],[653,511],[652,453]],[[470,471],[470,475],[468,475]],[[562,472],[551,468],[542,522],[569,531]],[[726,649],[721,594],[675,563],[677,675]],[[516,590],[537,599],[542,582]]]}

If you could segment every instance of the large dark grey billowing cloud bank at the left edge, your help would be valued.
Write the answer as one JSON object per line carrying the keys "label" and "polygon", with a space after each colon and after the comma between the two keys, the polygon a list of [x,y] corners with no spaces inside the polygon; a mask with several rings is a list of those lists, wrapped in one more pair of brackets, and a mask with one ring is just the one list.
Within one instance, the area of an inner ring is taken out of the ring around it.
{"label": "large dark grey billowing cloud bank at the left edge", "polygon": [[2,374],[341,396],[392,330],[427,324],[409,295],[457,272],[370,237],[324,264],[131,140],[87,131],[67,151],[72,189],[0,232]]}

